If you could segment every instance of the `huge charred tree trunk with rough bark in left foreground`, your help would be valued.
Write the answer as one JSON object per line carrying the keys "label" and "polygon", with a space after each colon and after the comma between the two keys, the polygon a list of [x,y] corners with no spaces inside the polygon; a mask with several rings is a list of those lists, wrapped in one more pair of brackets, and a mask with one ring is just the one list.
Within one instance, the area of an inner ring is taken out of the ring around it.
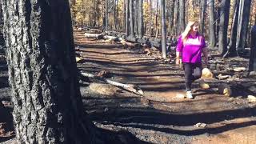
{"label": "huge charred tree trunk with rough bark in left foreground", "polygon": [[94,143],[79,92],[68,1],[2,2],[18,143]]}

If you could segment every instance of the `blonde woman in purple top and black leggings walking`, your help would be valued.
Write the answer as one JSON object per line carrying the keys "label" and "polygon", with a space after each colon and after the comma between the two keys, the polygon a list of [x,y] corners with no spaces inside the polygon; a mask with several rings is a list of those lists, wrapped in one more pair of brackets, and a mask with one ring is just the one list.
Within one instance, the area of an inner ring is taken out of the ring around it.
{"label": "blonde woman in purple top and black leggings walking", "polygon": [[188,22],[186,29],[178,38],[176,48],[176,64],[180,64],[182,58],[183,70],[185,73],[186,98],[194,98],[191,92],[191,85],[194,80],[202,75],[202,53],[207,66],[208,57],[205,39],[198,33],[198,22]]}

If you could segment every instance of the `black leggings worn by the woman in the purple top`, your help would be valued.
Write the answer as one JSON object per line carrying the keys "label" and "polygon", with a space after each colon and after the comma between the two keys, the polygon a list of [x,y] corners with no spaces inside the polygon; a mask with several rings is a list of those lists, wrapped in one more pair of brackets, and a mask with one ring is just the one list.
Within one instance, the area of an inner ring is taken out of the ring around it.
{"label": "black leggings worn by the woman in the purple top", "polygon": [[183,70],[185,72],[186,91],[191,90],[191,85],[194,80],[201,78],[202,63],[187,63],[183,62]]}

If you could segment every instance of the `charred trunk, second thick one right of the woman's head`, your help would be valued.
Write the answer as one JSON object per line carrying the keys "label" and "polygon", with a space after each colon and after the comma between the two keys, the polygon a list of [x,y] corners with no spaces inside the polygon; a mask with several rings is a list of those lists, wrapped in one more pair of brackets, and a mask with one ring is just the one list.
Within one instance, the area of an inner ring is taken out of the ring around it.
{"label": "charred trunk, second thick one right of the woman's head", "polygon": [[218,51],[223,56],[227,51],[227,27],[229,23],[230,0],[222,0],[220,4],[220,12],[221,17],[218,32]]}

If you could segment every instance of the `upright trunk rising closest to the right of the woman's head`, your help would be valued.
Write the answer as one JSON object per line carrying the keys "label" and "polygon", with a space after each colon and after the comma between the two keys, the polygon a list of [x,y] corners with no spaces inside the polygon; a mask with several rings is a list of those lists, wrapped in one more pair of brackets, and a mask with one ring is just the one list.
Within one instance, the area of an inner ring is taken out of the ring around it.
{"label": "upright trunk rising closest to the right of the woman's head", "polygon": [[215,24],[214,24],[214,0],[209,0],[209,41],[210,41],[210,47],[215,46]]}

